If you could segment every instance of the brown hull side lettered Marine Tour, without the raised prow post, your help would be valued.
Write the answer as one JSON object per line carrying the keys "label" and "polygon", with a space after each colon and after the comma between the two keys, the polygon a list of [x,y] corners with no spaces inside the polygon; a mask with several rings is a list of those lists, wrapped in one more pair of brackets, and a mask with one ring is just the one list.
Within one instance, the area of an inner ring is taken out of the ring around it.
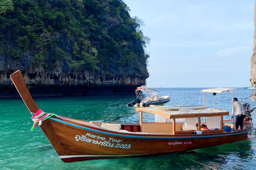
{"label": "brown hull side lettered Marine Tour, without the raised prow post", "polygon": [[56,152],[64,162],[189,151],[243,140],[251,129],[248,127],[237,132],[203,135],[156,135],[112,132],[67,122],[61,118],[50,118],[48,122],[59,142],[49,141],[54,148],[61,144],[63,149]]}

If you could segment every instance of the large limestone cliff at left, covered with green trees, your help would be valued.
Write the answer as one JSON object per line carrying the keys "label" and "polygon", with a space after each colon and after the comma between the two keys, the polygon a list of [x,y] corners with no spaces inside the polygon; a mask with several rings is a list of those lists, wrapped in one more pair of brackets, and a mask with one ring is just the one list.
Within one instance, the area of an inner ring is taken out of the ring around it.
{"label": "large limestone cliff at left, covered with green trees", "polygon": [[149,77],[143,21],[122,0],[0,1],[0,97],[134,93]]}

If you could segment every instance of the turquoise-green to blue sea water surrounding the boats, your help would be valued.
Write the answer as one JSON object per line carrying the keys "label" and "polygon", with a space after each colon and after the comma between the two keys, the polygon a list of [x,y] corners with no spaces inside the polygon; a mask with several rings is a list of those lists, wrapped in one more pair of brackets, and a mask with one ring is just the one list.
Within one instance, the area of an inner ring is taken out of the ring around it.
{"label": "turquoise-green to blue sea water surrounding the boats", "polygon": [[[156,88],[160,95],[170,95],[165,105],[203,104],[204,88]],[[246,97],[254,90],[238,88],[234,97],[256,107],[255,101]],[[98,95],[34,98],[44,112],[88,121],[100,120],[116,123],[139,123],[139,113],[126,104],[134,95]],[[215,97],[206,93],[206,104],[217,109],[232,111],[232,95],[223,92]],[[231,115],[231,112],[230,112]],[[255,120],[256,110],[252,113]],[[230,119],[231,116],[225,116]],[[143,121],[154,122],[146,114]],[[148,170],[148,169],[256,169],[256,138],[215,147],[197,149],[182,154],[168,154],[139,158],[91,160],[64,163],[38,126],[31,131],[31,115],[21,98],[0,99],[0,169],[57,169],[57,170]],[[157,144],[157,143],[156,143]]]}

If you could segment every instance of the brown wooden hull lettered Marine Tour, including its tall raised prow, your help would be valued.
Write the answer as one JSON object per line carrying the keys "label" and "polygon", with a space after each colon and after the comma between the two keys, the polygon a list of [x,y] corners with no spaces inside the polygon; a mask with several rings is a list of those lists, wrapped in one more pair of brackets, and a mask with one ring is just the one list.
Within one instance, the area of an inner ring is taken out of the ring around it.
{"label": "brown wooden hull lettered Marine Tour, including its tall raised prow", "polygon": [[[16,71],[10,77],[33,115],[39,108],[29,94],[21,72]],[[246,138],[247,133],[252,130],[251,120],[248,119],[244,125],[247,127],[243,130],[233,132],[212,133],[209,130],[208,132],[211,133],[171,134],[170,130],[165,134],[142,134],[139,133],[140,124],[121,125],[123,129],[133,131],[133,133],[123,133],[98,128],[87,121],[53,116],[44,120],[39,127],[60,159],[64,162],[74,162],[169,154],[232,143]]]}

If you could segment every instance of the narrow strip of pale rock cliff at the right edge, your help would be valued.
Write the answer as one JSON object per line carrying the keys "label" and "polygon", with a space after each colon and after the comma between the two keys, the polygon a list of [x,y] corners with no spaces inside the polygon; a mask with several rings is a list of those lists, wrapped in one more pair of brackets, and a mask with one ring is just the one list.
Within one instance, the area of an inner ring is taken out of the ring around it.
{"label": "narrow strip of pale rock cliff at the right edge", "polygon": [[251,56],[251,86],[256,87],[256,0],[254,3],[254,36],[253,36],[253,54]]}

